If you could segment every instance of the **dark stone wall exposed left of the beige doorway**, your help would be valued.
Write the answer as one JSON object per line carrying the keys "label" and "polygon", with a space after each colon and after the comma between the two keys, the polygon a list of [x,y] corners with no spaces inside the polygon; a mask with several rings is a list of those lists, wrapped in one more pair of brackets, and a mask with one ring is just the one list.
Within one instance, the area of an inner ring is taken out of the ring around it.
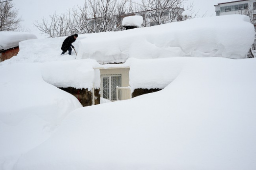
{"label": "dark stone wall exposed left of the beige doorway", "polygon": [[[68,92],[72,95],[74,95],[82,104],[83,107],[85,106],[92,106],[93,105],[93,93],[91,91],[88,91],[88,89],[76,89],[74,87],[67,87],[67,88],[59,88],[65,92]],[[94,89],[94,104],[100,103],[100,93],[99,89]]]}

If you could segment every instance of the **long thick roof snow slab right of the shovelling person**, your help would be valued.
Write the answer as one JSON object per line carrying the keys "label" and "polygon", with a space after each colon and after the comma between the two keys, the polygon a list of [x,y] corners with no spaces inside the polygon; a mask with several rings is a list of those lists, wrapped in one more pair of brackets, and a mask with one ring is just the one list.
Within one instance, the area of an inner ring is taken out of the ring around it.
{"label": "long thick roof snow slab right of the shovelling person", "polygon": [[254,26],[245,15],[197,18],[88,34],[80,40],[77,58],[94,58],[99,63],[125,62],[130,57],[245,58],[254,34]]}

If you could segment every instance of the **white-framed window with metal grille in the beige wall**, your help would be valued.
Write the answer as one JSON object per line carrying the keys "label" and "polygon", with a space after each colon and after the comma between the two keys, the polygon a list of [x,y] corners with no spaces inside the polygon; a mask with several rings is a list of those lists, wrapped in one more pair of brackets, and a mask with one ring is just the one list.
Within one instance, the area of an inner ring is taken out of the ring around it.
{"label": "white-framed window with metal grille in the beige wall", "polygon": [[121,75],[102,75],[100,96],[115,101],[116,86],[121,86]]}

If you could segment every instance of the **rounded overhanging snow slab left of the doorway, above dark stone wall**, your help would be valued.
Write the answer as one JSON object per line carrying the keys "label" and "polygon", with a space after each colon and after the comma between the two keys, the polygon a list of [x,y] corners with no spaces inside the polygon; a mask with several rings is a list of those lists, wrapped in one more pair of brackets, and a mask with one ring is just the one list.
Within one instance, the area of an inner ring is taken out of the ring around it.
{"label": "rounded overhanging snow slab left of the doorway, above dark stone wall", "polygon": [[100,88],[100,72],[93,68],[98,63],[92,59],[55,61],[42,65],[44,80],[56,87]]}

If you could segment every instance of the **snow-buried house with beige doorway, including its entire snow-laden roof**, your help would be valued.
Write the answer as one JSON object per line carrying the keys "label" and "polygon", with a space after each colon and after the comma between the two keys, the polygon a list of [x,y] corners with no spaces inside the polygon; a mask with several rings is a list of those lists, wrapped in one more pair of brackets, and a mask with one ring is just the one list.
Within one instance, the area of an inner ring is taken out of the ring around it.
{"label": "snow-buried house with beige doorway, including its entire snow-laden roof", "polygon": [[60,57],[65,37],[23,41],[19,55],[2,64],[42,62],[47,83],[91,106],[99,104],[101,97],[116,101],[165,88],[189,64],[185,57],[246,58],[254,34],[244,15],[188,19],[79,35],[73,43],[77,56]]}

